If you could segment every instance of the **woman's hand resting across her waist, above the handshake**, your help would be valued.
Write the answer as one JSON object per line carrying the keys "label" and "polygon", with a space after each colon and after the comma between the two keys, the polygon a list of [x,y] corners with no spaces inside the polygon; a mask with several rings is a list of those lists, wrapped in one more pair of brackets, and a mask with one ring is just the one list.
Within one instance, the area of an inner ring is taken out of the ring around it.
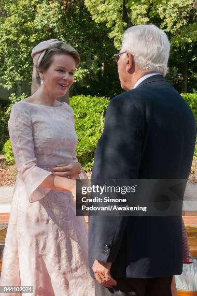
{"label": "woman's hand resting across her waist, above the handshake", "polygon": [[81,163],[61,163],[53,168],[54,174],[60,177],[69,177],[70,179],[79,175],[81,170]]}

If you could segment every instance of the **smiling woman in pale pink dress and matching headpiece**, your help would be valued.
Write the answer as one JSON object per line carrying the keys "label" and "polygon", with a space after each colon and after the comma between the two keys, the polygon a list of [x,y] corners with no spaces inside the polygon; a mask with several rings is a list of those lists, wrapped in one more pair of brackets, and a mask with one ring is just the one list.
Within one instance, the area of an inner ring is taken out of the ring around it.
{"label": "smiling woman in pale pink dress and matching headpiece", "polygon": [[86,225],[73,201],[81,171],[74,115],[56,101],[73,84],[80,57],[56,39],[38,44],[32,57],[40,87],[14,104],[8,123],[18,176],[0,285],[31,285],[35,296],[93,296]]}

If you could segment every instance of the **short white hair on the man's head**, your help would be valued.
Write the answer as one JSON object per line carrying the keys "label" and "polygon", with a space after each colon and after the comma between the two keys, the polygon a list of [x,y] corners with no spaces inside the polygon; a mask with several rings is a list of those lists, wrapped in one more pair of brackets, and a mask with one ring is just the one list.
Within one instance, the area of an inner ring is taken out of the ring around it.
{"label": "short white hair on the man's head", "polygon": [[133,26],[123,35],[121,51],[130,52],[137,67],[143,72],[158,72],[165,76],[169,49],[166,33],[155,25]]}

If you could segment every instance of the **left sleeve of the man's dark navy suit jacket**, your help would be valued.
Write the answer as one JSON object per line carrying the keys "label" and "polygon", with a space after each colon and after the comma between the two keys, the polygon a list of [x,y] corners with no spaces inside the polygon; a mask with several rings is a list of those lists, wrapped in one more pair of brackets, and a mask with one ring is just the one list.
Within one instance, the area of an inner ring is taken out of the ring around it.
{"label": "left sleeve of the man's dark navy suit jacket", "polygon": [[[138,178],[141,149],[141,115],[130,100],[124,102],[121,97],[115,97],[106,112],[105,127],[97,149],[99,165],[95,169],[99,172],[94,172],[94,175],[100,179]],[[94,219],[94,229],[91,229],[97,240],[94,242],[94,259],[113,262],[120,249],[128,217],[95,216]]]}

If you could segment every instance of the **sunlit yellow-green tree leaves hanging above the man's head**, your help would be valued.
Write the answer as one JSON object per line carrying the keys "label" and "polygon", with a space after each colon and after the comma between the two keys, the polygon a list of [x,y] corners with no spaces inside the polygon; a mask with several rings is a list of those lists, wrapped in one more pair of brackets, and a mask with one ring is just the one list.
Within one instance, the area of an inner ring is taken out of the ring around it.
{"label": "sunlit yellow-green tree leaves hanging above the man's head", "polygon": [[171,43],[178,46],[197,41],[193,3],[194,0],[85,0],[93,19],[111,28],[109,36],[118,49],[127,25],[155,24],[169,32]]}

